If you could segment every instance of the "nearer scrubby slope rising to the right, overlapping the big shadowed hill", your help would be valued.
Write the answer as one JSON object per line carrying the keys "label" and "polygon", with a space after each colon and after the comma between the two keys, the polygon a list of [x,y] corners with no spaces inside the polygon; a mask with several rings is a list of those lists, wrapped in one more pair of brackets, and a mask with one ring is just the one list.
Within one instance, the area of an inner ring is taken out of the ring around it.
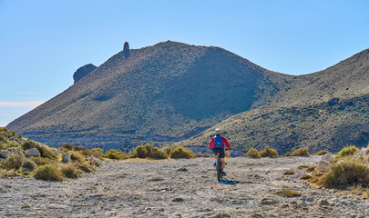
{"label": "nearer scrubby slope rising to the right, overlapping the big shadowed hill", "polygon": [[278,92],[269,102],[257,102],[250,111],[181,144],[207,144],[215,128],[222,129],[231,144],[243,151],[266,144],[281,153],[296,147],[316,152],[368,144],[369,50],[321,72],[294,76],[274,90]]}

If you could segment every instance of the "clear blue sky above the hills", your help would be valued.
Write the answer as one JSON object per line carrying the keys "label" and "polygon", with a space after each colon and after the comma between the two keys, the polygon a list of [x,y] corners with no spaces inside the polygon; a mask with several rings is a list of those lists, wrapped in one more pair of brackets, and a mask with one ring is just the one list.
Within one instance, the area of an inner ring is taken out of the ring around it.
{"label": "clear blue sky above the hills", "polygon": [[0,126],[73,84],[79,66],[172,40],[284,74],[369,48],[369,1],[0,0]]}

